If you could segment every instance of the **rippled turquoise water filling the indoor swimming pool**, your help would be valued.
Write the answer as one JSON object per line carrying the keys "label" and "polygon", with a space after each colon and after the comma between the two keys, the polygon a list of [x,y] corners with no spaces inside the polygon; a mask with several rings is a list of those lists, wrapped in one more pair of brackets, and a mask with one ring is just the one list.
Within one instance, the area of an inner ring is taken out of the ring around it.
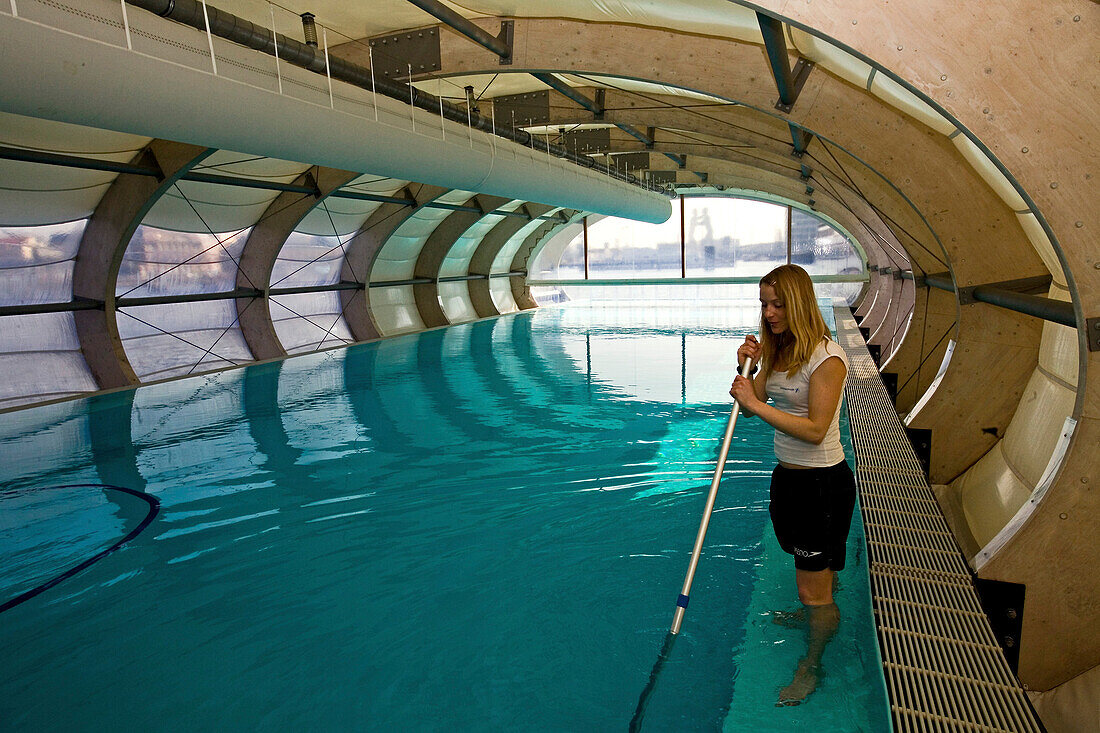
{"label": "rippled turquoise water filling the indoor swimming pool", "polygon": [[[0,416],[10,730],[626,730],[757,309],[565,307]],[[828,314],[827,314],[828,315]],[[889,730],[858,518],[817,692],[734,438],[644,730]]]}

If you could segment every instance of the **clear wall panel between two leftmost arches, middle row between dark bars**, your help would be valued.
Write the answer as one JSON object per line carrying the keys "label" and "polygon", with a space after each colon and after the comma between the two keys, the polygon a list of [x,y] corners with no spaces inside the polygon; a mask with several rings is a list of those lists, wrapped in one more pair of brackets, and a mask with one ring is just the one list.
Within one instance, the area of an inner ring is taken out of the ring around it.
{"label": "clear wall panel between two leftmost arches, middle row between dark bars", "polygon": [[145,297],[230,292],[250,231],[204,234],[141,226],[122,259],[114,293]]}

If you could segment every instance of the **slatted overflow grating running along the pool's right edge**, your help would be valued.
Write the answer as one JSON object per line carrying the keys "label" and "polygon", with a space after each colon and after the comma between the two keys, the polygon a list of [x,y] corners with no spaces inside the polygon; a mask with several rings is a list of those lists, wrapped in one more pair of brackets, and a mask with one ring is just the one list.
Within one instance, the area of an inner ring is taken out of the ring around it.
{"label": "slatted overflow grating running along the pool's right edge", "polygon": [[847,308],[835,314],[894,729],[1042,731],[856,321]]}

